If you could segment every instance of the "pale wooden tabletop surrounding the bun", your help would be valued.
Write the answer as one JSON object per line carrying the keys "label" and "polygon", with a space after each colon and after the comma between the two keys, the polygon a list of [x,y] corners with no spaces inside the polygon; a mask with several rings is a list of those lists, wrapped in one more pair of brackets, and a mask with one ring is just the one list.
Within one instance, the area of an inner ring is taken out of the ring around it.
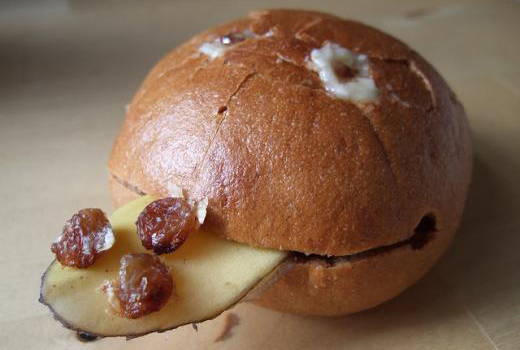
{"label": "pale wooden tabletop surrounding the bun", "polygon": [[[105,164],[125,104],[173,46],[273,6],[375,25],[446,77],[466,107],[475,150],[453,246],[416,286],[357,315],[299,317],[242,304],[198,332],[79,343],[38,303],[40,275],[72,212],[111,210]],[[520,349],[519,37],[512,0],[0,3],[0,348]],[[227,319],[235,327],[215,341]]]}

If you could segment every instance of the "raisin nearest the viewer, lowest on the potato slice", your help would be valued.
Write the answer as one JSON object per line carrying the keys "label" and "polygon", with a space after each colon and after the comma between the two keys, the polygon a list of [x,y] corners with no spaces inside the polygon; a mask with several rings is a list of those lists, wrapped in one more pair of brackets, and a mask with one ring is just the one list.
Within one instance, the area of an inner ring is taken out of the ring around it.
{"label": "raisin nearest the viewer, lowest on the potato slice", "polygon": [[127,254],[121,258],[119,275],[102,290],[114,310],[125,318],[139,318],[159,311],[175,284],[166,265],[151,254]]}

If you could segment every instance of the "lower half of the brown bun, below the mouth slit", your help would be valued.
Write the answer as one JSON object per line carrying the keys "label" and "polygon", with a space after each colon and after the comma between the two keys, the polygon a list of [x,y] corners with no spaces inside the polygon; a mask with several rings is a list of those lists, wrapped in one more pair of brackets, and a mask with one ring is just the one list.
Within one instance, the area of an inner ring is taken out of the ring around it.
{"label": "lower half of the brown bun, below the mouth slit", "polygon": [[[109,177],[115,207],[139,196]],[[415,284],[449,246],[456,227],[435,232],[420,249],[410,244],[354,261],[326,264],[287,259],[247,301],[281,312],[337,316],[375,307]]]}

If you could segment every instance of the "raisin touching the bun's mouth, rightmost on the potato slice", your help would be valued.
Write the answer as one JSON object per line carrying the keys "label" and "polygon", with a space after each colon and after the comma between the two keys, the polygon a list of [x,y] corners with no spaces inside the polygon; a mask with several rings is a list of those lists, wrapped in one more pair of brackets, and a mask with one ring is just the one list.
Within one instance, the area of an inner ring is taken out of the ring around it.
{"label": "raisin touching the bun's mouth, rightmost on the potato slice", "polygon": [[139,214],[137,235],[146,249],[156,254],[171,253],[197,230],[191,205],[182,198],[156,200]]}

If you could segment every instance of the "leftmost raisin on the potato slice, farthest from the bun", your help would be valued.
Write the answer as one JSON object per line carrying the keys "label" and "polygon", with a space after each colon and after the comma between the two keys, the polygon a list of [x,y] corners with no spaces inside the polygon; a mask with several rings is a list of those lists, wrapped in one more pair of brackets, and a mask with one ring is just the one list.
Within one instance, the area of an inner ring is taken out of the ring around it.
{"label": "leftmost raisin on the potato slice, farthest from the bun", "polygon": [[82,209],[65,223],[51,251],[65,266],[88,267],[114,244],[114,233],[101,209]]}

